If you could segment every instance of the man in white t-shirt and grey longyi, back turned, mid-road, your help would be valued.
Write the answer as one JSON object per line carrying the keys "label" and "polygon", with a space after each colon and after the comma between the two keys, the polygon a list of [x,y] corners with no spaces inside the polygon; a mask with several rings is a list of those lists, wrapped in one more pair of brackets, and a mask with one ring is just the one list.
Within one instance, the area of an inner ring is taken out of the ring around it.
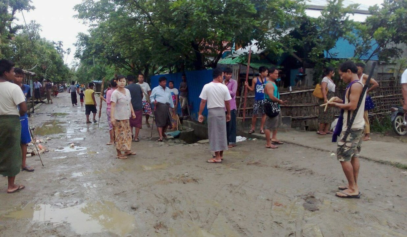
{"label": "man in white t-shirt and grey longyi, back turned, mid-road", "polygon": [[[199,106],[198,121],[204,122],[202,112],[208,102],[208,136],[210,150],[215,152],[215,157],[209,159],[208,163],[222,163],[223,151],[228,150],[228,138],[226,122],[230,121],[230,96],[229,89],[223,85],[223,70],[215,68],[212,72],[212,82],[204,85],[201,91],[201,104]],[[227,113],[225,114],[226,108]]]}

